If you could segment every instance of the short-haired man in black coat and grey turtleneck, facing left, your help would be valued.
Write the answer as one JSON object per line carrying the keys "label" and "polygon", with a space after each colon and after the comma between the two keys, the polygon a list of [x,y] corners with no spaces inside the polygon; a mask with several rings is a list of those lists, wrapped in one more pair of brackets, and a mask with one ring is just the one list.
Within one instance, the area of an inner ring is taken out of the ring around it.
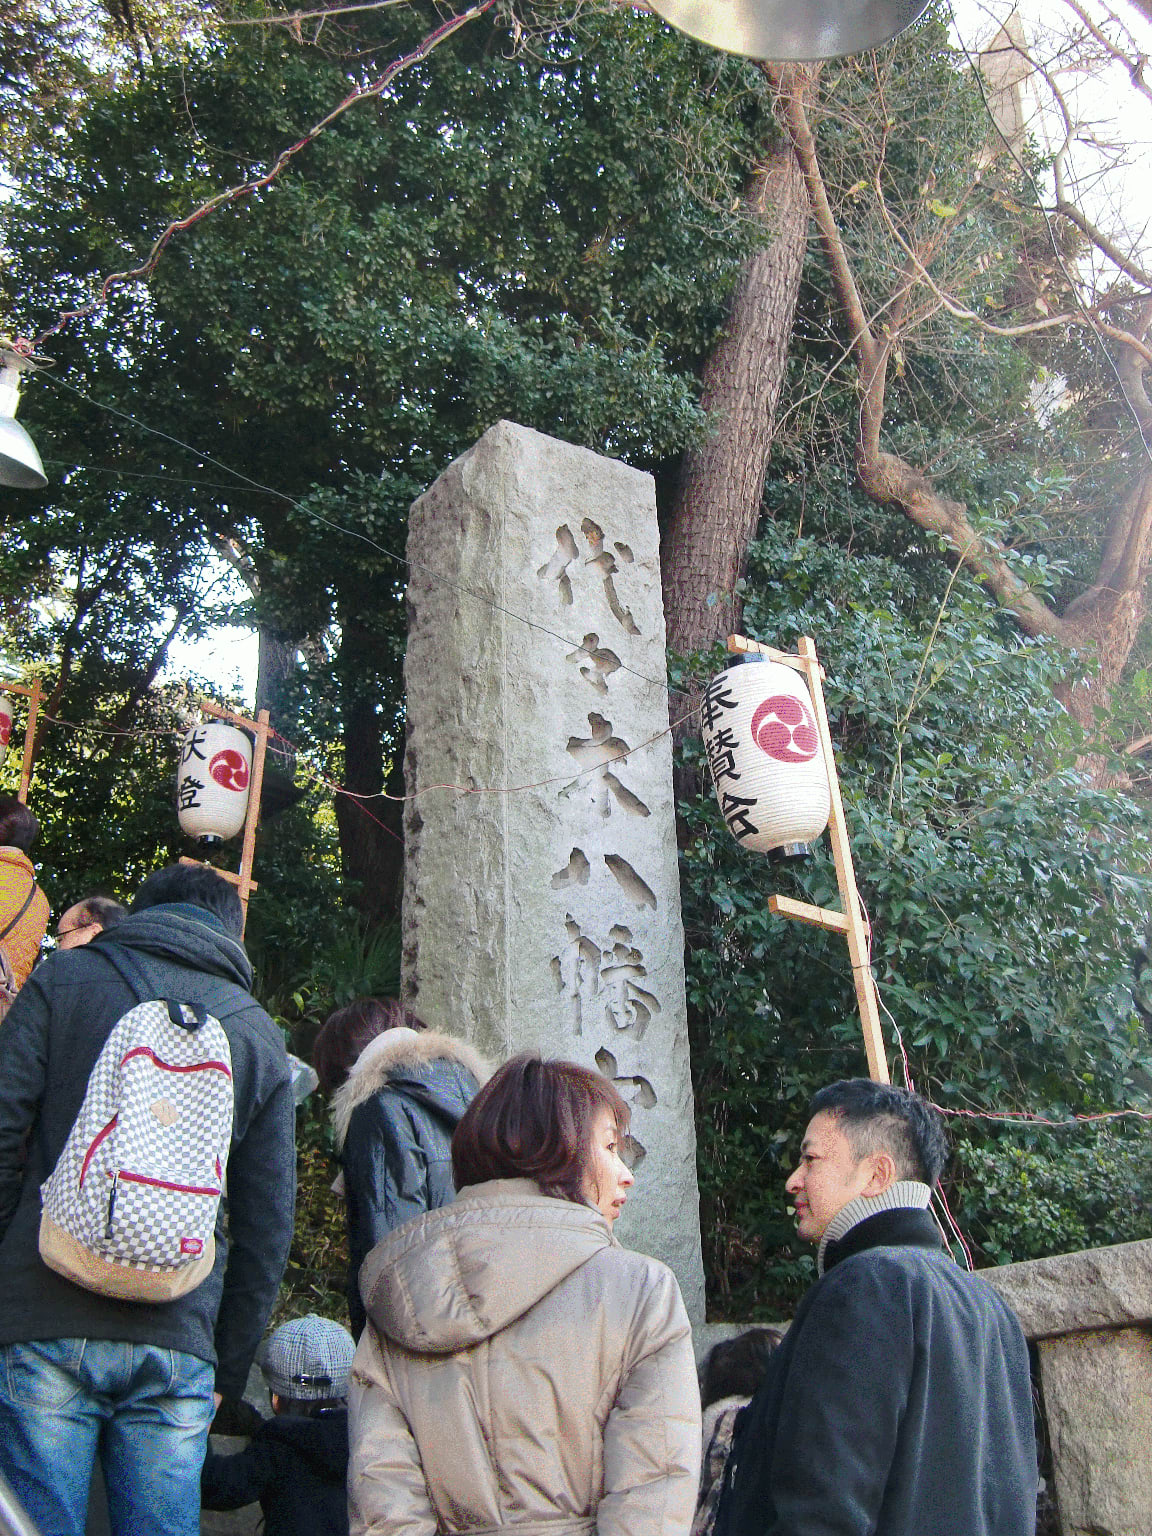
{"label": "short-haired man in black coat and grey turtleneck, facing left", "polygon": [[813,1098],[785,1189],[819,1278],[742,1416],[717,1536],[1034,1536],[1028,1346],[942,1243],[946,1157],[915,1094]]}

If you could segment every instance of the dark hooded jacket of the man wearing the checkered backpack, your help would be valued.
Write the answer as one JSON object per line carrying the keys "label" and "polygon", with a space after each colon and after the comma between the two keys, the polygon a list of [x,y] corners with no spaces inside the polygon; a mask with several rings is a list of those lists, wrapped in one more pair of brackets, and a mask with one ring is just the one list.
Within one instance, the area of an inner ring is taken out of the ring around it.
{"label": "dark hooded jacket of the man wearing the checkered backpack", "polygon": [[[178,1301],[98,1296],[40,1260],[40,1184],[55,1167],[104,1040],[138,1000],[106,958],[152,997],[200,1003],[224,1026],[235,1109],[217,1263]],[[134,912],[91,945],[49,955],[0,1026],[0,1344],[98,1338],[184,1350],[240,1396],[292,1240],[295,1115],[284,1041],[250,994],[244,948],[183,903]],[[154,991],[152,991],[154,988]]]}

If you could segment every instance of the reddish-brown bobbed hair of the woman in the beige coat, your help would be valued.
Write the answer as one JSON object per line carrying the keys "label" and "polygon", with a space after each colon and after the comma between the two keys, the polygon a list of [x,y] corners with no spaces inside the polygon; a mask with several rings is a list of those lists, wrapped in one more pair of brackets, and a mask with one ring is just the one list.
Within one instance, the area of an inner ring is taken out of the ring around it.
{"label": "reddish-brown bobbed hair of the woman in the beige coat", "polygon": [[524,1052],[505,1061],[464,1111],[452,1138],[456,1189],[490,1178],[535,1178],[545,1195],[587,1203],[593,1121],[608,1109],[628,1132],[628,1106],[607,1077],[574,1061]]}

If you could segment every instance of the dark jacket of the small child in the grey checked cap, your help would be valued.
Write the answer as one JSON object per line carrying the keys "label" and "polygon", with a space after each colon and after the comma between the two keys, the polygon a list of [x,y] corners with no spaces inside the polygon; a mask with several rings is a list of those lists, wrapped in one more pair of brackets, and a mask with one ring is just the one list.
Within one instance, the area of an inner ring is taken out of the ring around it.
{"label": "dark jacket of the small child in the grey checked cap", "polygon": [[266,1419],[244,1450],[220,1456],[209,1447],[200,1476],[206,1510],[238,1510],[260,1501],[264,1536],[347,1536],[349,1410],[309,1419]]}

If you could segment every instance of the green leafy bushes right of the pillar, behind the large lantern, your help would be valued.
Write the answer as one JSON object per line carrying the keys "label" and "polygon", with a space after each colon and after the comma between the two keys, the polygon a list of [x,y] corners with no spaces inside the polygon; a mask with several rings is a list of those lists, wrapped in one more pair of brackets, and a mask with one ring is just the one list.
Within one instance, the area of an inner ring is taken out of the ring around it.
{"label": "green leafy bushes right of the pillar, behind the large lantern", "polygon": [[[745,630],[782,648],[809,634],[828,671],[897,1080],[903,1041],[915,1086],[946,1111],[1064,1120],[1138,1098],[1149,1055],[1129,955],[1144,926],[1149,828],[1137,803],[1092,790],[1077,768],[1084,742],[1052,694],[1058,657],[1012,636],[965,578],[932,565],[912,581],[888,556],[849,554],[783,518],[750,551]],[[839,906],[836,871],[826,840],[799,868],[743,852],[699,745],[682,757],[700,774],[699,797],[680,805],[680,869],[713,1295],[733,1316],[779,1315],[809,1275],[782,1193],[806,1100],[866,1066],[843,940],[770,915],[766,900]],[[978,1120],[949,1129],[983,1261],[1147,1229],[1132,1200],[1109,1227],[1109,1190],[1138,1183],[1127,1143],[1092,1150],[1091,1134],[1071,1129],[1017,1164]],[[1032,1172],[1035,1195],[1006,1207],[1011,1187],[1028,1187],[1020,1169],[1041,1164],[1049,1183]],[[1094,1167],[1092,1195],[1077,1201]]]}

